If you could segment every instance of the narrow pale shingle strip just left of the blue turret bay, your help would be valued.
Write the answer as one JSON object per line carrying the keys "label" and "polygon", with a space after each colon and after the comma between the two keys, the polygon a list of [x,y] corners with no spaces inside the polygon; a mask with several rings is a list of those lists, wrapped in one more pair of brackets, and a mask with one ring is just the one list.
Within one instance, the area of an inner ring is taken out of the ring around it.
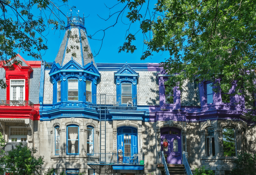
{"label": "narrow pale shingle strip just left of the blue turret bay", "polygon": [[49,72],[50,70],[45,70],[44,104],[52,104],[53,85]]}

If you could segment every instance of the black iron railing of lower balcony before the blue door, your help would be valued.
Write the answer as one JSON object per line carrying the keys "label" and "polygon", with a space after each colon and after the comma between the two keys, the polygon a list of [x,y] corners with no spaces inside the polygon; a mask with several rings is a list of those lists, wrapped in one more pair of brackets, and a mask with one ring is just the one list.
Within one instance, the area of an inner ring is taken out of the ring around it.
{"label": "black iron railing of lower balcony before the blue door", "polygon": [[87,153],[90,165],[144,165],[144,153]]}

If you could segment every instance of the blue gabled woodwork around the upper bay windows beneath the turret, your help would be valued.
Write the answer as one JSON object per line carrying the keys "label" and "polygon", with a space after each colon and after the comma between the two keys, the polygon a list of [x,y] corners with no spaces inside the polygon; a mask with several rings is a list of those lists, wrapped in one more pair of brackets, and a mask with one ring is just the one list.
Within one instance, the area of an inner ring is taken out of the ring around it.
{"label": "blue gabled woodwork around the upper bay windows beneath the turret", "polygon": [[[54,61],[49,75],[52,79],[54,91],[53,105],[62,104],[62,106],[66,106],[66,103],[72,102],[68,100],[68,79],[78,79],[78,101],[74,101],[74,103],[79,103],[79,106],[89,103],[86,102],[86,95],[84,94],[86,92],[86,80],[92,82],[92,95],[94,95],[92,96],[92,103],[96,103],[96,85],[97,79],[100,78],[100,73],[92,62],[82,67],[71,58],[67,64],[61,67],[59,63]],[[61,81],[61,101],[57,102],[57,81],[59,80]]]}

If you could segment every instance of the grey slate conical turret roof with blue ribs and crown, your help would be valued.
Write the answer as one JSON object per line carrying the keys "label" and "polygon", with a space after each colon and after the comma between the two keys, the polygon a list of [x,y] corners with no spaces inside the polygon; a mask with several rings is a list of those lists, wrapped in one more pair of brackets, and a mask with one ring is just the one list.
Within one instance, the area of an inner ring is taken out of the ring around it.
{"label": "grey slate conical turret roof with blue ribs and crown", "polygon": [[[84,39],[77,43],[77,38],[70,37],[75,35]],[[70,49],[69,53],[67,53],[67,49]],[[93,65],[97,68],[94,57],[92,57],[92,51],[86,36],[86,29],[84,27],[84,18],[82,17],[72,16],[68,18],[68,26],[66,27],[66,32],[55,58],[55,62],[64,66],[71,60],[72,53],[76,54],[76,57],[73,56],[73,60],[78,62],[81,66],[91,63],[92,61]]]}

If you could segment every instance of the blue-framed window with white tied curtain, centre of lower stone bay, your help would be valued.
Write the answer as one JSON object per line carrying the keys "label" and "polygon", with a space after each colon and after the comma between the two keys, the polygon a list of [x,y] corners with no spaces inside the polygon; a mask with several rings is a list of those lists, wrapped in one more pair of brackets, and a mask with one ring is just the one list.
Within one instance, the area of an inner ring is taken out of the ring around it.
{"label": "blue-framed window with white tied curtain, centre of lower stone bay", "polygon": [[79,154],[79,127],[67,126],[67,154]]}

